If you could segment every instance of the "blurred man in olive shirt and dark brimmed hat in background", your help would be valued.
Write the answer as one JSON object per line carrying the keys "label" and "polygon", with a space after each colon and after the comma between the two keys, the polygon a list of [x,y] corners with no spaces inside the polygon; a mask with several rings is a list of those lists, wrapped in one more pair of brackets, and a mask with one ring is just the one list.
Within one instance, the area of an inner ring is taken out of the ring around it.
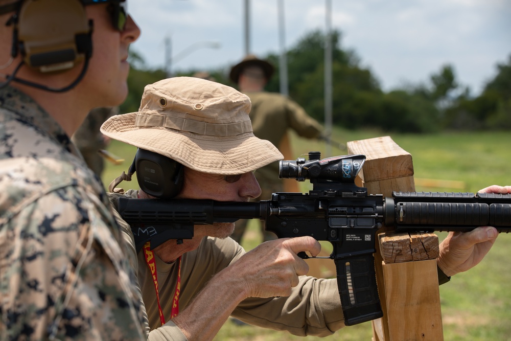
{"label": "blurred man in olive shirt and dark brimmed hat in background", "polygon": [[[300,137],[317,139],[321,137],[323,127],[298,103],[287,96],[278,93],[270,93],[264,90],[266,83],[273,75],[273,65],[268,61],[259,59],[254,55],[247,55],[238,64],[234,65],[229,73],[229,78],[238,85],[238,89],[250,98],[252,110],[250,120],[254,135],[260,139],[270,141],[278,148],[285,148],[288,130],[295,131]],[[290,147],[285,149],[291,149]],[[285,149],[282,149],[284,151]],[[305,151],[308,152],[308,151]],[[291,157],[289,157],[291,158]],[[261,184],[261,196],[259,199],[268,200],[271,193],[286,192],[284,182],[278,179],[278,164],[270,163],[255,172],[255,178]],[[264,221],[261,221],[263,239],[275,239],[275,235],[264,229]],[[241,242],[247,226],[247,220],[239,220],[236,223],[236,231],[231,236],[237,242]]]}

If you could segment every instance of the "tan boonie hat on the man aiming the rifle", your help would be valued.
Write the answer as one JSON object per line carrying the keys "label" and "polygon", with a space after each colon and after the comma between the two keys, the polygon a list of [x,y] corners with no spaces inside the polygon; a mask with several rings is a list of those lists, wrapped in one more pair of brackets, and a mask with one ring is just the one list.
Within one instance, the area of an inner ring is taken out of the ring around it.
{"label": "tan boonie hat on the man aiming the rifle", "polygon": [[250,99],[230,86],[174,77],[147,85],[138,112],[109,118],[101,132],[196,171],[243,174],[283,158],[254,136],[250,107]]}

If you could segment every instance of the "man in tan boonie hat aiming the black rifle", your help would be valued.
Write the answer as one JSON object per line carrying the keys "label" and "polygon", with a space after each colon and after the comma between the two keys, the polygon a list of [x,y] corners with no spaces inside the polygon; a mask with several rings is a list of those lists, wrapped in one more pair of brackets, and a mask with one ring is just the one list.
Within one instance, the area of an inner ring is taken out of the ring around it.
{"label": "man in tan boonie hat aiming the black rifle", "polygon": [[[167,162],[169,171],[162,173],[169,176],[170,186],[145,184],[139,173],[150,178],[154,169],[139,169],[135,156],[135,169],[112,181],[110,190],[134,172],[145,190],[116,189],[111,201],[120,195],[219,201],[259,196],[252,171],[282,155],[254,137],[249,111],[246,95],[219,83],[177,77],[147,85],[138,112],[110,118],[101,131],[138,147],[137,155],[149,153],[148,158],[160,157],[161,165]],[[216,223],[195,225],[193,238],[182,243],[172,239],[152,251],[147,244],[138,251],[130,226],[118,219],[131,244],[126,252],[137,271],[150,339],[212,339],[229,316],[303,336],[326,336],[344,326],[337,281],[303,276],[309,267],[297,254],[320,251],[312,237],[271,240],[245,253],[228,238],[234,224]],[[440,248],[444,257],[438,261],[446,274],[467,270],[482,259],[489,247],[481,244],[481,254],[475,255],[474,244],[495,240],[483,234],[457,236]]]}

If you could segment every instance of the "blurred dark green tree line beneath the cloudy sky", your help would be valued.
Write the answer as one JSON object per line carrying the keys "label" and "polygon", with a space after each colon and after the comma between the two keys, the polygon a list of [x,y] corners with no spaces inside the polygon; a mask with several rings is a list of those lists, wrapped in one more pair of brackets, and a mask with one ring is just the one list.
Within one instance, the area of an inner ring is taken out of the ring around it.
{"label": "blurred dark green tree line beneath the cloudy sky", "polygon": [[[341,32],[332,39],[332,82],[334,125],[348,129],[377,127],[395,132],[437,132],[443,130],[511,129],[511,55],[496,65],[478,96],[458,82],[454,66],[445,64],[424,83],[406,84],[384,92],[370,69],[360,64],[356,52],[341,47]],[[306,34],[287,51],[289,96],[319,122],[324,121],[324,33]],[[278,55],[259,56],[272,62],[275,74],[266,89],[278,92]],[[121,112],[137,111],[146,84],[166,77],[165,70],[150,69],[136,52],[132,65],[129,95]],[[216,81],[236,87],[228,79],[230,65],[207,70]],[[176,76],[192,76],[190,70]]]}

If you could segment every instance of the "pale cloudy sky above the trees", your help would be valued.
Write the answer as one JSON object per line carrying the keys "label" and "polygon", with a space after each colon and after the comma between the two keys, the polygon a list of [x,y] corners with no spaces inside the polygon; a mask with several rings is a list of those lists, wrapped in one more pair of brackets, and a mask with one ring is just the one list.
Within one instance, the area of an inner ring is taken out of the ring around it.
{"label": "pale cloudy sky above the trees", "polygon": [[[250,0],[250,50],[280,52],[279,0]],[[385,90],[426,82],[451,63],[458,82],[479,94],[511,55],[511,0],[331,0],[332,27]],[[325,0],[283,0],[286,48],[324,30]],[[133,44],[150,66],[165,65],[171,41],[173,71],[227,67],[245,53],[244,0],[129,0],[142,29]],[[220,48],[206,47],[218,42]],[[192,50],[190,48],[192,47]],[[194,49],[193,47],[198,47]]]}

